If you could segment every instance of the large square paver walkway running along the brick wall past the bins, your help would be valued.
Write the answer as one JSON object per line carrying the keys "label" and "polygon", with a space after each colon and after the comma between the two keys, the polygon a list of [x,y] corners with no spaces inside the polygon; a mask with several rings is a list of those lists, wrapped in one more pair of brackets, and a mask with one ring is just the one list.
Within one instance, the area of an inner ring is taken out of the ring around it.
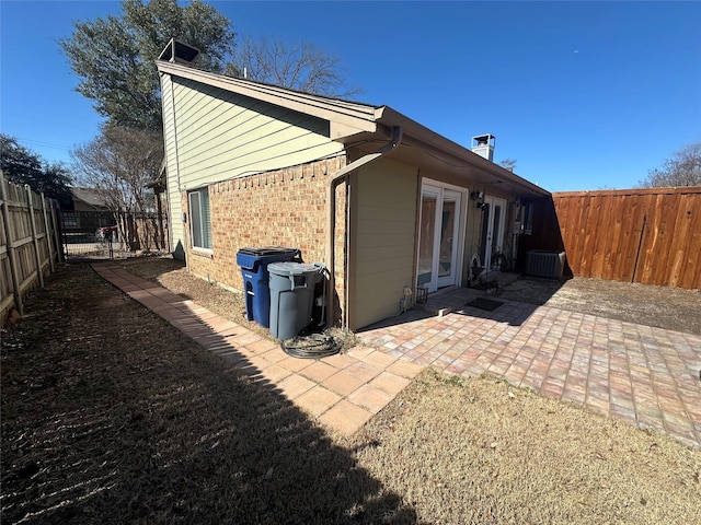
{"label": "large square paver walkway running along the brick wall past the bins", "polygon": [[278,343],[111,262],[95,271],[204,348],[256,381],[268,383],[322,424],[355,433],[387,406],[422,366],[372,348],[312,360],[287,355]]}

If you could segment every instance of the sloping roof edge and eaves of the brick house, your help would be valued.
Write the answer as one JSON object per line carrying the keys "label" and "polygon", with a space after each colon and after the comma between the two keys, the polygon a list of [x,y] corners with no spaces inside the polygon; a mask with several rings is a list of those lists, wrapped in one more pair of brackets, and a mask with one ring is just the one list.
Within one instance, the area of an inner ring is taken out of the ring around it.
{"label": "sloping roof edge and eaves of the brick house", "polygon": [[403,139],[392,156],[403,158],[417,166],[435,166],[456,177],[468,177],[482,185],[504,184],[515,191],[536,196],[549,196],[545,189],[494,164],[439,133],[422,126],[389,106],[376,106],[314,95],[246,79],[202,71],[191,66],[157,60],[160,73],[192,80],[206,85],[237,93],[312,115],[330,122],[331,139],[353,144],[361,153],[377,149],[379,140],[387,141],[392,128],[401,126]]}

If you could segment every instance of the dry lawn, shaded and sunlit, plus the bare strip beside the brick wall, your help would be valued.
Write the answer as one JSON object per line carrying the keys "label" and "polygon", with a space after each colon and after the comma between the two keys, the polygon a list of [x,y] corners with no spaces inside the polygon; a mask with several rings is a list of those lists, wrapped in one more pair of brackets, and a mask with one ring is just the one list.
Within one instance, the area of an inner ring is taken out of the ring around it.
{"label": "dry lawn, shaded and sunlit, plus the bare strip beside the brick wall", "polygon": [[[123,264],[241,322],[171,259]],[[347,439],[88,266],[27,311],[2,334],[3,523],[701,523],[701,452],[504,382],[427,371]]]}

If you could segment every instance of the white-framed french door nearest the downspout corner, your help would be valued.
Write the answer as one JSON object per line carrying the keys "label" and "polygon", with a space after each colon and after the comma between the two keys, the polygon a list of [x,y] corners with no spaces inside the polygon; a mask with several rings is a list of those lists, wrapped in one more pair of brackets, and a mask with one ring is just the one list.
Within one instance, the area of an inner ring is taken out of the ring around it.
{"label": "white-framed french door nearest the downspout corner", "polygon": [[429,292],[458,283],[462,192],[424,184],[421,200],[417,284]]}

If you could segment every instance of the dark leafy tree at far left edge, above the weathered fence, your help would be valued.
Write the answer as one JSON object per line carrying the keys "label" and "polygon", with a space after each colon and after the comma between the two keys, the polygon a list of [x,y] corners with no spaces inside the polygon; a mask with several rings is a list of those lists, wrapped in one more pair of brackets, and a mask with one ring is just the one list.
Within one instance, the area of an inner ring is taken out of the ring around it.
{"label": "dark leafy tree at far left edge, above the weathered fence", "polygon": [[48,164],[38,154],[21,145],[18,140],[0,133],[0,167],[4,177],[14,184],[28,184],[33,191],[66,202],[70,199],[71,177],[60,163]]}

